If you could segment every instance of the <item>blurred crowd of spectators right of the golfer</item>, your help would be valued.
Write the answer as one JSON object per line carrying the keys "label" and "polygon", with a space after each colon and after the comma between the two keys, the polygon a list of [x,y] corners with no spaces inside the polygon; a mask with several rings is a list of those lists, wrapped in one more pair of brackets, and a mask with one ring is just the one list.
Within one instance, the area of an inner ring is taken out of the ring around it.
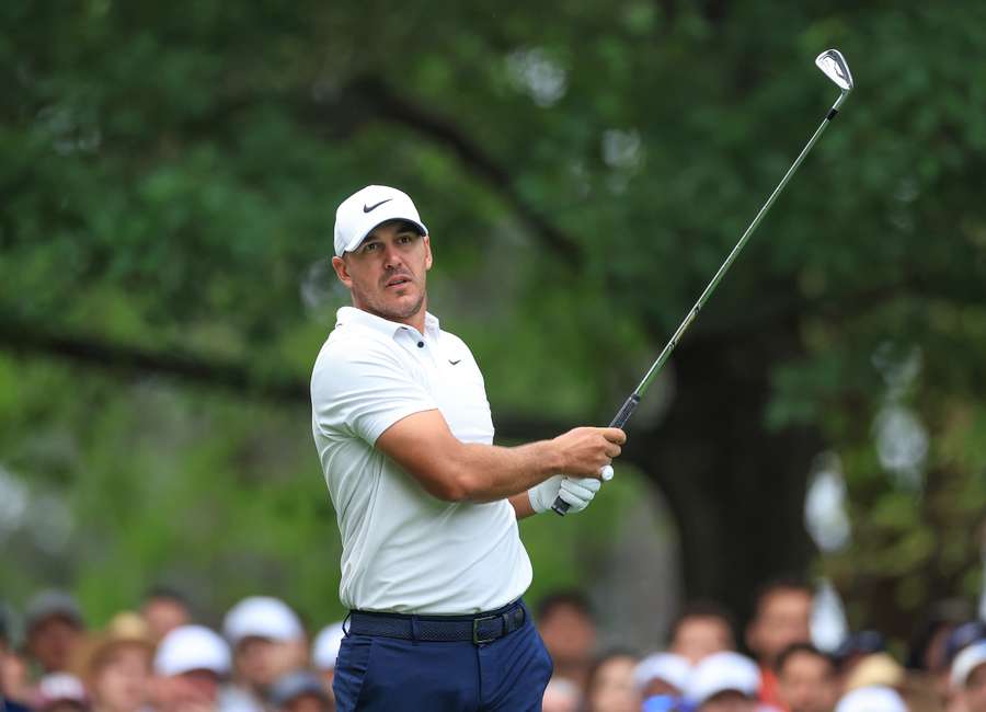
{"label": "blurred crowd of spectators right of the golfer", "polygon": [[695,601],[661,650],[593,655],[586,599],[549,597],[538,611],[555,673],[544,712],[986,712],[986,624],[972,606],[943,601],[915,621],[905,657],[873,630],[819,650],[814,602],[804,582],[778,579],[757,592],[742,634],[722,606]]}

